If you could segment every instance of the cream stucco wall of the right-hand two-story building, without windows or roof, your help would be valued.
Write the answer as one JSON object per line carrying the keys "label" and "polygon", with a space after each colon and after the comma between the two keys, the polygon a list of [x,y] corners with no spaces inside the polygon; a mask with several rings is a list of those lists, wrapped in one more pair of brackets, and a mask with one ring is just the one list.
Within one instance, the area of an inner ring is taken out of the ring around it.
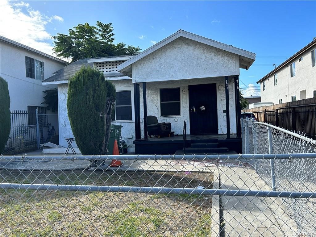
{"label": "cream stucco wall of the right-hand two-story building, without windows or roof", "polygon": [[[261,102],[278,104],[279,99],[282,99],[285,103],[291,101],[294,95],[296,100],[313,97],[313,91],[316,90],[316,66],[312,67],[311,51],[312,49],[308,50],[289,62],[287,67],[283,66],[277,70],[277,85],[274,85],[273,75],[264,80],[265,90],[263,90],[263,82],[260,83]],[[299,62],[301,57],[303,60]],[[293,62],[295,62],[295,76],[291,77],[290,65]]]}

